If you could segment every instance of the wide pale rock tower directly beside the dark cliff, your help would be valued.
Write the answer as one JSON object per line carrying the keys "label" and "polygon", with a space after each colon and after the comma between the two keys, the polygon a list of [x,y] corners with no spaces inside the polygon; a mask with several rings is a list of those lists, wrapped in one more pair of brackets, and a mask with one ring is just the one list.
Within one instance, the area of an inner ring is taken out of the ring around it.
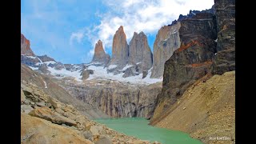
{"label": "wide pale rock tower directly beside the dark cliff", "polygon": [[158,30],[154,41],[153,69],[150,78],[161,78],[164,64],[181,45],[179,29],[180,22],[171,26],[163,26]]}

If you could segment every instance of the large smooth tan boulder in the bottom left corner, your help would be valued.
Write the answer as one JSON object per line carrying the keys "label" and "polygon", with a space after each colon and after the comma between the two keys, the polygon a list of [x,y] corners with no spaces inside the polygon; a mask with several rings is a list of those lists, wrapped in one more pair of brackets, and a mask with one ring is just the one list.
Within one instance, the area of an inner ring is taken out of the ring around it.
{"label": "large smooth tan boulder in the bottom left corner", "polygon": [[77,130],[59,126],[42,118],[21,114],[21,143],[85,143],[93,144]]}

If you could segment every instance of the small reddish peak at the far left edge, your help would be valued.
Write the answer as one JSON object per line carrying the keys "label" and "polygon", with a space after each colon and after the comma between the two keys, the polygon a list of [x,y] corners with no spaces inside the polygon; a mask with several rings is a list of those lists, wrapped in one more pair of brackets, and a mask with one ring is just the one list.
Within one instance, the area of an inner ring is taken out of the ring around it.
{"label": "small reddish peak at the far left edge", "polygon": [[30,41],[26,39],[23,34],[21,34],[21,54],[26,56],[35,56],[33,51],[30,49]]}

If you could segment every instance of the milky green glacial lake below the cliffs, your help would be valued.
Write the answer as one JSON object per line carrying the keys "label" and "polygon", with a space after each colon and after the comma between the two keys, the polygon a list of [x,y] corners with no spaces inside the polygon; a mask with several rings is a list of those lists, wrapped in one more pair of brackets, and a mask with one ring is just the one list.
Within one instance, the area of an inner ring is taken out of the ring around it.
{"label": "milky green glacial lake below the cliffs", "polygon": [[145,118],[110,118],[95,119],[94,121],[105,124],[122,134],[134,136],[151,142],[158,141],[162,144],[202,144],[189,134],[178,130],[168,130],[148,125]]}

